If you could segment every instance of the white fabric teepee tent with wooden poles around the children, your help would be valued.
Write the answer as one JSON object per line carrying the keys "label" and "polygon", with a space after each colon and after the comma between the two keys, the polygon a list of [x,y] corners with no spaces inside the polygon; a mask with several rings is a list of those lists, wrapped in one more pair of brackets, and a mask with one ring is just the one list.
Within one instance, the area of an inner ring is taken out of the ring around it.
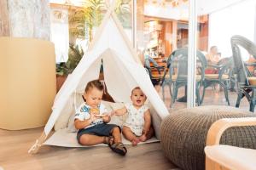
{"label": "white fabric teepee tent with wooden poles around the children", "polygon": [[74,112],[75,94],[83,94],[87,82],[97,79],[103,61],[104,80],[115,102],[130,102],[131,89],[139,86],[152,107],[154,128],[159,137],[161,119],[168,115],[166,105],[155,91],[147,71],[141,65],[131,43],[113,12],[113,5],[102,20],[90,48],[55,97],[52,113],[41,137],[29,152],[36,153],[53,127],[55,131],[67,127]]}

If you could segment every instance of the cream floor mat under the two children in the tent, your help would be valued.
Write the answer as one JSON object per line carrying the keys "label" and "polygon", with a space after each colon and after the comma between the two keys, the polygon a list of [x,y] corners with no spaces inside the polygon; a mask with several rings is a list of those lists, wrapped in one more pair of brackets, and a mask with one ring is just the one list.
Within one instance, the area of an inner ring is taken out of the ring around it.
{"label": "cream floor mat under the two children in the tent", "polygon": [[[159,139],[153,137],[152,139],[148,139],[146,142],[141,142],[139,144],[148,144],[159,142]],[[124,136],[122,136],[123,144],[130,145],[131,142],[126,140]],[[47,139],[44,144],[46,145],[55,145],[55,146],[62,146],[62,147],[91,147],[91,146],[84,146],[78,143],[77,141],[77,133],[70,133],[67,131],[67,128],[60,129],[53,133],[49,139]],[[108,146],[107,144],[96,144],[93,146]]]}

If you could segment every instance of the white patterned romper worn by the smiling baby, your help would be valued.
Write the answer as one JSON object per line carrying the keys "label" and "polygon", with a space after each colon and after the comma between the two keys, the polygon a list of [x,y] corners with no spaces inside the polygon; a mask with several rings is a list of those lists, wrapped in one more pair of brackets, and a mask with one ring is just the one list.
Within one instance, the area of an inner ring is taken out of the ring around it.
{"label": "white patterned romper worn by the smiling baby", "polygon": [[137,136],[143,134],[144,126],[144,113],[148,110],[147,105],[142,105],[139,109],[135,108],[132,104],[125,104],[127,110],[127,118],[123,126],[130,127],[131,131]]}

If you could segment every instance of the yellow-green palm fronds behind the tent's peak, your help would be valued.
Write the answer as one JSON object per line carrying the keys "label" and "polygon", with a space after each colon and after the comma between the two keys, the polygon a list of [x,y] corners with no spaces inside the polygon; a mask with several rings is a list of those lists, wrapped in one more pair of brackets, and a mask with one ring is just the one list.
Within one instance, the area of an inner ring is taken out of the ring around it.
{"label": "yellow-green palm fronds behind the tent's peak", "polygon": [[[117,0],[115,6],[115,12],[124,27],[131,27],[129,2],[131,0]],[[83,39],[86,37],[91,41],[92,29],[101,25],[106,11],[105,0],[84,1],[83,8],[69,15],[70,34]]]}

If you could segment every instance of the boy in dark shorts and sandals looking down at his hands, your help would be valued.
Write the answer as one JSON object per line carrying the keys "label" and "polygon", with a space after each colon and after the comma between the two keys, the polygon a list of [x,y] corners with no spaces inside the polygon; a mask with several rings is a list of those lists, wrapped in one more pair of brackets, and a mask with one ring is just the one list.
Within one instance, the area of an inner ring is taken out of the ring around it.
{"label": "boy in dark shorts and sandals looking down at his hands", "polygon": [[95,145],[105,143],[116,153],[125,156],[127,150],[122,144],[121,129],[110,122],[110,116],[101,104],[103,85],[98,80],[90,81],[84,90],[85,103],[80,105],[74,116],[74,125],[79,132],[79,144]]}

